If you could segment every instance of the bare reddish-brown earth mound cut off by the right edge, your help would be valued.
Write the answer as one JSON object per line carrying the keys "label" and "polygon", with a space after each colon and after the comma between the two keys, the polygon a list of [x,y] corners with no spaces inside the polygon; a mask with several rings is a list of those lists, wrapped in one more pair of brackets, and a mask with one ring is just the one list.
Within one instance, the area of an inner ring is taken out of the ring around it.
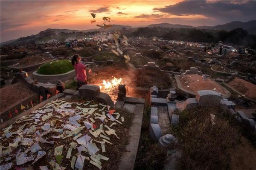
{"label": "bare reddish-brown earth mound cut off by the right edge", "polygon": [[241,92],[245,96],[256,99],[256,85],[247,82],[243,79],[235,78],[232,81],[227,83],[232,88],[236,89],[237,91]]}

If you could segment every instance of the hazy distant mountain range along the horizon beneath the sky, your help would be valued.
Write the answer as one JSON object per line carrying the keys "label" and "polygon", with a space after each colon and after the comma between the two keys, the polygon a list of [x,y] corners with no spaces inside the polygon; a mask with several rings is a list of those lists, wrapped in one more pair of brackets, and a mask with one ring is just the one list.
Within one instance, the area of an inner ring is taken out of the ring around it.
{"label": "hazy distant mountain range along the horizon beneath the sky", "polygon": [[[160,24],[152,24],[148,27],[166,27],[166,28],[197,28],[197,29],[207,29],[207,30],[226,30],[230,31],[235,28],[243,28],[244,30],[247,30],[249,34],[256,34],[256,20],[248,21],[248,22],[240,22],[240,21],[233,21],[230,23],[226,23],[223,25],[217,25],[217,26],[186,26],[186,25],[179,25],[179,24],[170,24],[170,23],[160,23]],[[119,29],[120,31],[135,31],[137,28],[131,27],[131,26],[123,26],[123,25],[112,25],[110,28],[108,28],[108,31],[113,31],[115,29]],[[94,28],[94,29],[88,29],[88,30],[82,30],[82,32],[90,32],[90,31],[106,31],[104,28]],[[6,43],[9,44],[19,44],[23,42],[30,42],[35,40],[44,40],[45,37],[51,37],[58,39],[60,37],[59,33],[72,33],[72,32],[81,32],[79,30],[70,30],[70,29],[54,29],[54,28],[48,28],[44,31],[40,31],[38,34],[18,38],[16,40],[9,40],[6,42],[1,42],[1,45],[4,45]],[[65,35],[65,34],[62,34]],[[63,38],[63,36],[62,36]]]}

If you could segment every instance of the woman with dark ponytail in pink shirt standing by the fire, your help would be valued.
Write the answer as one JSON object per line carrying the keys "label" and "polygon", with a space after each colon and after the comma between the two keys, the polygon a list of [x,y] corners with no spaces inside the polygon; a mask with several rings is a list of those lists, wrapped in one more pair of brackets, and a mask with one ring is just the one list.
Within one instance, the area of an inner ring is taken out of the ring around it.
{"label": "woman with dark ponytail in pink shirt standing by the fire", "polygon": [[86,66],[81,63],[79,54],[73,55],[72,65],[74,65],[76,70],[77,89],[79,89],[82,85],[87,84]]}

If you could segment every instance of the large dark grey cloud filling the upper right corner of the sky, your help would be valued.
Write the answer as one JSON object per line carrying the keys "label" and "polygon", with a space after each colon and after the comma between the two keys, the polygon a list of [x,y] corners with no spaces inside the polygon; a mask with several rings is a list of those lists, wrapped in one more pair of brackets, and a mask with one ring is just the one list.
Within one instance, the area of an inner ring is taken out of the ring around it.
{"label": "large dark grey cloud filling the upper right corner of the sky", "polygon": [[223,20],[253,20],[256,16],[256,1],[206,1],[186,0],[163,8],[153,8],[155,11],[168,14],[204,15]]}

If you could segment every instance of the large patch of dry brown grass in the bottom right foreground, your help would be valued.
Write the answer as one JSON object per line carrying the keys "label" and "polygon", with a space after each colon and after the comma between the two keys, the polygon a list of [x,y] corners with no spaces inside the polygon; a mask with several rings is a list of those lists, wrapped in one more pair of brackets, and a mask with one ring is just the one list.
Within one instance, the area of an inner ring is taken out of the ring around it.
{"label": "large patch of dry brown grass in the bottom right foreground", "polygon": [[[183,111],[180,124],[172,128],[179,140],[182,157],[178,170],[228,170],[231,168],[229,150],[235,148],[245,130],[235,116],[219,109],[199,108]],[[210,114],[215,115],[212,125]],[[248,133],[248,132],[247,132]]]}

